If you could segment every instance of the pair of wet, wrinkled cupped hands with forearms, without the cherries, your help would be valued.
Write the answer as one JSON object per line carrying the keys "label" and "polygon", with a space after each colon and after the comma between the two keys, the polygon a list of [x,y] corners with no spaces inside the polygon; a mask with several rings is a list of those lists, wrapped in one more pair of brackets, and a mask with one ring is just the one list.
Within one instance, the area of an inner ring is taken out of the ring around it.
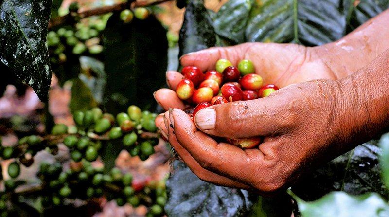
{"label": "pair of wet, wrinkled cupped hands with forearms, without the cherries", "polygon": [[[169,71],[166,77],[172,90],[154,94],[168,110],[156,118],[156,125],[204,181],[263,195],[288,187],[304,171],[388,127],[389,90],[383,87],[389,82],[389,39],[385,37],[389,30],[382,28],[389,22],[388,14],[337,42],[314,48],[245,43],[184,55],[183,66],[195,65],[203,71],[213,69],[220,58],[234,65],[250,59],[265,84],[282,89],[265,98],[202,109],[193,121],[181,110],[185,105],[174,91],[182,75]],[[361,35],[368,40],[359,40]],[[362,46],[365,43],[369,46]],[[217,143],[210,135],[265,139],[258,148],[240,149]]]}

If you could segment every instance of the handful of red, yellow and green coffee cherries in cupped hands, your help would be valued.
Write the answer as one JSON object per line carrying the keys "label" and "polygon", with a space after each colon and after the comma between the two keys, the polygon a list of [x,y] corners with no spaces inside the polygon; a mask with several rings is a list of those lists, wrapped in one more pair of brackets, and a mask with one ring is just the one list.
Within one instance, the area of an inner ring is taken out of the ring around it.
{"label": "handful of red, yellow and green coffee cherries in cupped hands", "polygon": [[[185,66],[181,71],[184,79],[178,83],[176,93],[181,100],[192,105],[185,110],[193,120],[199,110],[209,106],[262,98],[279,89],[274,84],[263,85],[262,77],[254,73],[254,65],[247,59],[241,60],[238,67],[227,59],[219,59],[215,68],[203,73],[196,66]],[[261,138],[227,141],[242,148],[253,148],[260,144]]]}

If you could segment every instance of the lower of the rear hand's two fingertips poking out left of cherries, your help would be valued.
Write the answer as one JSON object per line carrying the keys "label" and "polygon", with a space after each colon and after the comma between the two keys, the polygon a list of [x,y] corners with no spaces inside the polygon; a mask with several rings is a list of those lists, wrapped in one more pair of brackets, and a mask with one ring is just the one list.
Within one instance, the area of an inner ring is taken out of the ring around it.
{"label": "lower of the rear hand's two fingertips poking out left of cherries", "polygon": [[185,109],[185,105],[177,93],[173,90],[162,88],[154,92],[154,98],[157,103],[165,110],[172,108]]}

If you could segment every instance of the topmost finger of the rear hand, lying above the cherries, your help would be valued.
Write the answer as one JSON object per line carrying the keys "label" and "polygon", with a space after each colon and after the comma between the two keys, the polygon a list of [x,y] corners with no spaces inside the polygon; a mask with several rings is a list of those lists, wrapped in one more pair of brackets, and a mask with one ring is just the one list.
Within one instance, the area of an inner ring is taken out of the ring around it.
{"label": "topmost finger of the rear hand, lying above the cherries", "polygon": [[197,66],[201,70],[215,69],[217,60],[224,58],[230,60],[233,65],[237,65],[243,59],[249,48],[249,43],[244,43],[230,47],[215,47],[202,51],[185,54],[180,58],[182,66]]}

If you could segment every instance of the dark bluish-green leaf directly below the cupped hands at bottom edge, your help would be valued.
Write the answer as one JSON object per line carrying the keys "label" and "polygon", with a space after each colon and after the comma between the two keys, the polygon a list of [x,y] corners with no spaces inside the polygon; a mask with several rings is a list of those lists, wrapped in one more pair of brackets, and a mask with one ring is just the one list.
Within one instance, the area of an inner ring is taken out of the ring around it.
{"label": "dark bluish-green leaf directly below the cupped hands at bottom edge", "polygon": [[182,162],[173,163],[174,171],[166,182],[167,216],[245,216],[252,202],[245,190],[220,187],[201,181]]}

